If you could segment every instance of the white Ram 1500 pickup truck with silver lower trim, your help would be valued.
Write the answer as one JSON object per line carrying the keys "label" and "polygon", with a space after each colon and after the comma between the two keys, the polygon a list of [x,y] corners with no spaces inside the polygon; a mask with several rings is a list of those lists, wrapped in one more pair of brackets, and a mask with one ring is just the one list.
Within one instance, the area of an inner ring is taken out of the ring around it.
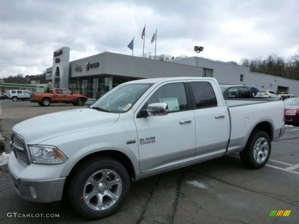
{"label": "white Ram 1500 pickup truck with silver lower trim", "polygon": [[89,108],[15,125],[8,165],[21,198],[53,202],[65,194],[75,211],[97,219],[120,208],[131,180],[236,152],[261,168],[284,131],[279,99],[225,102],[214,78],[143,79]]}

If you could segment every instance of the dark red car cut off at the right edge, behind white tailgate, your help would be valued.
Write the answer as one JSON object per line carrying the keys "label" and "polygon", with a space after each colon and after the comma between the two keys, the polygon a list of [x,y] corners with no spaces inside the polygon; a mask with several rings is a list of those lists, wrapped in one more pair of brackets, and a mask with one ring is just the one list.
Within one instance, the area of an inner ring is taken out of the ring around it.
{"label": "dark red car cut off at the right edge, behind white tailgate", "polygon": [[299,98],[288,98],[284,101],[286,123],[299,125]]}

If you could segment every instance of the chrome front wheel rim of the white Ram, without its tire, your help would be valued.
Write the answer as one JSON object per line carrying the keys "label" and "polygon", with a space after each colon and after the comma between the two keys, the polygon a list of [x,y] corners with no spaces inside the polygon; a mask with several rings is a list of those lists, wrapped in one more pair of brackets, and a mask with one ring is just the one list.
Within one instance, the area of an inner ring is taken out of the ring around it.
{"label": "chrome front wheel rim of the white Ram, without its tire", "polygon": [[118,201],[122,188],[118,173],[109,169],[97,171],[88,178],[84,185],[84,202],[93,210],[106,210]]}

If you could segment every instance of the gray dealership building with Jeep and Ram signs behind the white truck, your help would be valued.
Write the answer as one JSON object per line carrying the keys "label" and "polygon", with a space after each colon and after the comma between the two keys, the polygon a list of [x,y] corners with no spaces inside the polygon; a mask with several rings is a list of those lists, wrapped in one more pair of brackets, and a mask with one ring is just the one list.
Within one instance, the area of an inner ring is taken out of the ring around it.
{"label": "gray dealership building with Jeep and Ram signs behind the white truck", "polygon": [[234,62],[200,57],[158,61],[103,52],[70,62],[70,48],[53,52],[53,67],[46,70],[52,87],[69,88],[98,99],[115,86],[136,79],[158,77],[214,77],[220,85],[248,85],[257,89],[287,91],[299,96],[299,81],[254,73]]}

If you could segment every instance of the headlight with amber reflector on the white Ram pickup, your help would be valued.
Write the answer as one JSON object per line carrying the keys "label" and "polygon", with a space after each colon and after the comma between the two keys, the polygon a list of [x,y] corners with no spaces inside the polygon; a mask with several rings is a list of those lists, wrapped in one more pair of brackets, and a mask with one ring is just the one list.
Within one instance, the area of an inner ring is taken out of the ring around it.
{"label": "headlight with amber reflector on the white Ram pickup", "polygon": [[62,164],[68,158],[55,146],[28,145],[31,161],[36,164]]}

